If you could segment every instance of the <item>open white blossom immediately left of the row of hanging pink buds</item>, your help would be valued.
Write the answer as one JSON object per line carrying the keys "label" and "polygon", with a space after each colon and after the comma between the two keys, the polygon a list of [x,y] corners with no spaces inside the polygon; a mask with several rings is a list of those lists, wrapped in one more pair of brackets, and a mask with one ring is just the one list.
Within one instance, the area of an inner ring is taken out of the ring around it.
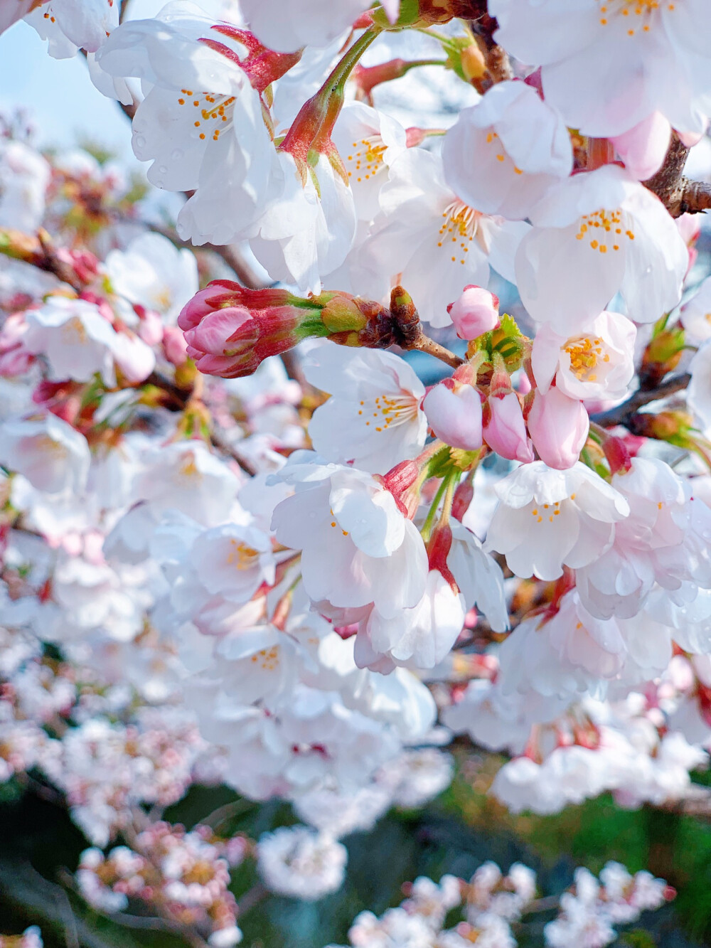
{"label": "open white blossom immediately left of the row of hanging pink buds", "polygon": [[425,446],[425,386],[399,356],[324,343],[304,359],[306,380],[331,397],[309,435],[324,458],[384,474]]}

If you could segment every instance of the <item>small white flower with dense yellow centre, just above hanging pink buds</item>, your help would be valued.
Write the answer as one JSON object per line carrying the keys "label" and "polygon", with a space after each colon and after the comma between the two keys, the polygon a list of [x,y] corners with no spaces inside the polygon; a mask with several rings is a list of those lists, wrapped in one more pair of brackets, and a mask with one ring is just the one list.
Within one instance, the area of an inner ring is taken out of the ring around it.
{"label": "small white flower with dense yellow centre, just above hanging pink buds", "polygon": [[569,398],[624,398],[634,375],[634,323],[601,313],[579,335],[559,336],[543,323],[534,337],[531,363],[536,387],[556,387]]}

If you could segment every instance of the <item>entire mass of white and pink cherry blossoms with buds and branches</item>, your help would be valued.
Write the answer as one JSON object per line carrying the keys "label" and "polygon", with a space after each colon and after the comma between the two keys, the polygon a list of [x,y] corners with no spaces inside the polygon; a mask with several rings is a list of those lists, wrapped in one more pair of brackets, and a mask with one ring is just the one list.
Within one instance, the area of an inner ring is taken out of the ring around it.
{"label": "entire mass of white and pink cherry blossoms with buds and branches", "polygon": [[[236,943],[234,860],[335,891],[455,736],[515,812],[695,793],[711,10],[569,6],[0,12],[82,50],[147,165],[0,137],[0,780],[61,795],[102,910]],[[304,825],[163,821],[219,782]],[[660,886],[579,870],[546,938]],[[350,938],[513,945],[534,900],[487,865]]]}

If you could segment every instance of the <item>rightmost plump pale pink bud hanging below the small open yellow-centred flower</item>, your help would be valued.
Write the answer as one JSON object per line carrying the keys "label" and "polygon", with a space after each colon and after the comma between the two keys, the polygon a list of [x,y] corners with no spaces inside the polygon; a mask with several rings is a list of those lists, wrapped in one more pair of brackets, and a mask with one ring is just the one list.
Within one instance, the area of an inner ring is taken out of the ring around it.
{"label": "rightmost plump pale pink bud hanging below the small open yellow-centred flower", "polygon": [[536,392],[528,414],[528,430],[540,460],[556,470],[567,470],[577,461],[590,429],[585,406],[557,388]]}

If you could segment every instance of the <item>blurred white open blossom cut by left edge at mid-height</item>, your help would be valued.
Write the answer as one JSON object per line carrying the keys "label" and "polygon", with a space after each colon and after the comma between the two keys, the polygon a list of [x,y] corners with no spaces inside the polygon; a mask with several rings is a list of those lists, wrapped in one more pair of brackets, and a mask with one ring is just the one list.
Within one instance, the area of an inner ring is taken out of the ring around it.
{"label": "blurred white open blossom cut by left edge at mid-height", "polygon": [[90,460],[86,438],[56,415],[0,427],[0,463],[47,494],[81,493]]}

